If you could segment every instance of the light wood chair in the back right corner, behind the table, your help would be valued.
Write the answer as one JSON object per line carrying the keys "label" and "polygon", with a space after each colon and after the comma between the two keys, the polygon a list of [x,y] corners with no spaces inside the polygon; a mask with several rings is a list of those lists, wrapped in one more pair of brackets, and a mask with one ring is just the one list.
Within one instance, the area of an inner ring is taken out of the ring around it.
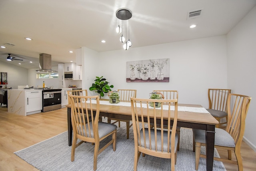
{"label": "light wood chair in the back right corner, behind the table", "polygon": [[[209,109],[208,112],[219,122],[220,125],[227,123],[227,97],[231,93],[231,89],[208,89]],[[226,121],[220,122],[220,119],[225,118]]]}

